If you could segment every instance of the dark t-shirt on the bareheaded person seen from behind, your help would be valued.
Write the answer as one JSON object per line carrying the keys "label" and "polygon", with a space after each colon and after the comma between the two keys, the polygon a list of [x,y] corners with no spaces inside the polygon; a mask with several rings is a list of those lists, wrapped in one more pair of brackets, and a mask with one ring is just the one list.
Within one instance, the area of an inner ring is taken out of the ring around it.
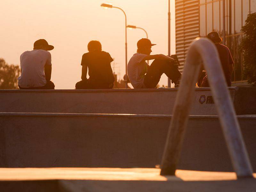
{"label": "dark t-shirt on the bareheaded person seen from behind", "polygon": [[88,66],[89,81],[93,83],[114,83],[115,77],[110,63],[113,61],[110,54],[104,51],[84,53],[81,65]]}

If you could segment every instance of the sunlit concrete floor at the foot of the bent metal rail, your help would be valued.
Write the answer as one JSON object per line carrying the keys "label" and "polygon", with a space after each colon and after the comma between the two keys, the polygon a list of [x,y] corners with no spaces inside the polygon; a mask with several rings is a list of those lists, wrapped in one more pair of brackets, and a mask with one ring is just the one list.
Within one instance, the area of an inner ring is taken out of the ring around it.
{"label": "sunlit concrete floor at the foot of the bent metal rail", "polygon": [[176,176],[168,177],[159,172],[153,168],[0,168],[0,187],[2,191],[16,186],[24,191],[65,192],[256,191],[256,173],[254,179],[236,180],[234,172],[177,170]]}

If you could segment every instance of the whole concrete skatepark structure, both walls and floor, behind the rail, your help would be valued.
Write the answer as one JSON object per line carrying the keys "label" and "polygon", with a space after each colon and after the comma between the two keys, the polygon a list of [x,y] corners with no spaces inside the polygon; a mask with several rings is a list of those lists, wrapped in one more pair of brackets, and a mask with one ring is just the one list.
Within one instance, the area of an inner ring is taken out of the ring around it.
{"label": "whole concrete skatepark structure, both walls and floor, behind the rail", "polygon": [[[238,116],[233,110],[233,117],[255,170],[256,94],[254,88],[239,90],[229,88],[228,103],[234,105]],[[2,191],[255,191],[255,174],[236,180],[243,166],[234,166],[235,175],[221,132],[223,119],[219,122],[207,88],[189,98],[179,170],[175,176],[159,175],[154,167],[175,120],[176,95],[177,89],[0,91]]]}

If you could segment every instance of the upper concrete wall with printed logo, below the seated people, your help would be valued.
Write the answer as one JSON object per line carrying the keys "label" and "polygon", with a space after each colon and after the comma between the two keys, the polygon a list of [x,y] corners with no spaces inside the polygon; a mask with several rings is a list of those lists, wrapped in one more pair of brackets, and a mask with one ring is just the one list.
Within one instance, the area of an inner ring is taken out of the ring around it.
{"label": "upper concrete wall with printed logo, below the seated people", "polygon": [[[177,90],[0,90],[0,112],[170,115]],[[195,90],[190,114],[217,115],[210,89]],[[229,90],[238,115],[256,114],[255,88]]]}

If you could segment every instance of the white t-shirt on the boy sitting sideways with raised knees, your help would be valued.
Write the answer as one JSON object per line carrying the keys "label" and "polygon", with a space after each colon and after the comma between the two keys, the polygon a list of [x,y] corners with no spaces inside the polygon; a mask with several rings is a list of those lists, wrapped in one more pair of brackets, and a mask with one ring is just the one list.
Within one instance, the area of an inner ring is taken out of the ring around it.
{"label": "white t-shirt on the boy sitting sideways with raised knees", "polygon": [[142,88],[145,74],[149,65],[143,59],[148,56],[146,54],[135,53],[127,65],[127,72],[130,82],[134,89]]}

